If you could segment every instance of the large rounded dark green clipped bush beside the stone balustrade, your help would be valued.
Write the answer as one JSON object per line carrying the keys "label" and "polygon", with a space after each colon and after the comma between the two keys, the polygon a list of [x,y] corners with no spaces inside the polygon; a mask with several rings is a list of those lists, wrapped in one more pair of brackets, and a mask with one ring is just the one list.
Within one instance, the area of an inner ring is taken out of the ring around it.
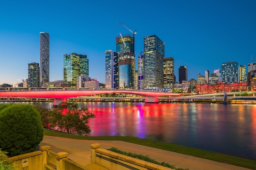
{"label": "large rounded dark green clipped bush beside the stone balustrade", "polygon": [[8,156],[32,152],[42,140],[40,114],[33,106],[14,104],[0,110],[0,148]]}

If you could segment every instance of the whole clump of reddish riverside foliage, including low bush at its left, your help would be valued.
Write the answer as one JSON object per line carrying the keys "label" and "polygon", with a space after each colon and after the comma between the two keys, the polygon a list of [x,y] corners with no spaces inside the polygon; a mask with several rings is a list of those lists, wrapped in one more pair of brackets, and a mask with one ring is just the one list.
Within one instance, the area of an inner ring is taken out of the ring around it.
{"label": "whole clump of reddish riverside foliage, including low bush at its left", "polygon": [[91,118],[95,118],[87,107],[79,109],[76,102],[62,102],[57,108],[46,109],[40,105],[35,108],[41,115],[41,121],[45,129],[53,129],[64,133],[86,135],[90,127],[87,125]]}

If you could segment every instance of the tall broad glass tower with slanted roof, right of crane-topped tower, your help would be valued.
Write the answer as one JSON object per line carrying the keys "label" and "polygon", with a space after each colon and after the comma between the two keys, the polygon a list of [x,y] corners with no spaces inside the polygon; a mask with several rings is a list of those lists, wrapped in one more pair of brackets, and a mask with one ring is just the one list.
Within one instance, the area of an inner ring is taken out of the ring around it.
{"label": "tall broad glass tower with slanted roof, right of crane-topped tower", "polygon": [[144,37],[144,88],[164,87],[164,43],[156,35]]}

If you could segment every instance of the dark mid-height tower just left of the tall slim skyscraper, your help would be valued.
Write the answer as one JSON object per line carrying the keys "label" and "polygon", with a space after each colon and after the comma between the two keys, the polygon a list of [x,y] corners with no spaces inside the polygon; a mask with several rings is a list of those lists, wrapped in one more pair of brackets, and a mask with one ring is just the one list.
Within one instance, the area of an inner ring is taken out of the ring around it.
{"label": "dark mid-height tower just left of the tall slim skyscraper", "polygon": [[40,87],[40,68],[39,63],[28,64],[27,87]]}

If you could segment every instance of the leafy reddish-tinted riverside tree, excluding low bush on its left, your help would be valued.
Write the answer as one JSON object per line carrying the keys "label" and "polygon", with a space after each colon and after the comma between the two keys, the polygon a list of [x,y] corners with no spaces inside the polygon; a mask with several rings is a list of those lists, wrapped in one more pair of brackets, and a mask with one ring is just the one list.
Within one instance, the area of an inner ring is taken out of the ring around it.
{"label": "leafy reddish-tinted riverside tree, excluding low bush on its left", "polygon": [[75,102],[62,102],[57,109],[51,111],[49,117],[58,131],[85,135],[91,131],[87,124],[95,115],[87,107],[79,109]]}

